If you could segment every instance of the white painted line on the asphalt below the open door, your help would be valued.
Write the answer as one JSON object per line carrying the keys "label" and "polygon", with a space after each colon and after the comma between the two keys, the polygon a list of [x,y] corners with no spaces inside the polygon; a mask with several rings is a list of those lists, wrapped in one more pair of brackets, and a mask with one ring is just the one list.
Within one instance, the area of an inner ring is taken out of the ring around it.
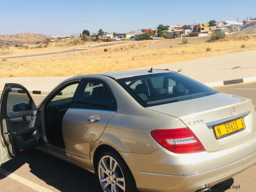
{"label": "white painted line on the asphalt below the open door", "polygon": [[36,190],[36,191],[39,191],[39,192],[53,192],[50,189],[44,188],[40,185],[37,185],[36,183],[33,183],[32,181],[27,180],[23,177],[20,177],[19,175],[16,175],[12,172],[6,171],[5,169],[0,168],[0,173],[5,175],[6,177],[9,177],[13,180],[18,181],[18,182],[22,183],[23,185],[26,185],[26,186],[28,186],[28,187]]}

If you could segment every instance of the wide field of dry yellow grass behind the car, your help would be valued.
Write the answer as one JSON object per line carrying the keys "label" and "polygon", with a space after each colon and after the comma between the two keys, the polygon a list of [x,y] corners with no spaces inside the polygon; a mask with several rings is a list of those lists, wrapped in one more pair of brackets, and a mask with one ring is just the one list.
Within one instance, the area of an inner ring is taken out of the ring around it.
{"label": "wide field of dry yellow grass behind the car", "polygon": [[[108,47],[26,59],[0,61],[0,76],[76,76],[100,72],[121,71],[152,65],[192,60],[215,55],[256,50],[256,36],[242,35],[226,41],[207,43],[203,38],[142,41]],[[246,45],[241,48],[241,41]],[[198,43],[199,42],[199,43]],[[170,49],[172,46],[172,49]],[[211,52],[206,48],[211,47]]]}

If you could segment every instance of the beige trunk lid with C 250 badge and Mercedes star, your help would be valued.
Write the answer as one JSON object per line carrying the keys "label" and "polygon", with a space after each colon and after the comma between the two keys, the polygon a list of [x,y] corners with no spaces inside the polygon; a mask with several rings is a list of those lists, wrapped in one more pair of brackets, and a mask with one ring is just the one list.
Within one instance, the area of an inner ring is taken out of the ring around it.
{"label": "beige trunk lid with C 250 badge and Mercedes star", "polygon": [[[236,112],[232,115],[231,108],[233,107]],[[256,113],[252,101],[229,94],[217,93],[196,99],[152,106],[148,109],[180,118],[208,152],[236,145],[248,140],[256,132]],[[244,118],[244,130],[216,139],[212,124],[223,124],[239,117]]]}

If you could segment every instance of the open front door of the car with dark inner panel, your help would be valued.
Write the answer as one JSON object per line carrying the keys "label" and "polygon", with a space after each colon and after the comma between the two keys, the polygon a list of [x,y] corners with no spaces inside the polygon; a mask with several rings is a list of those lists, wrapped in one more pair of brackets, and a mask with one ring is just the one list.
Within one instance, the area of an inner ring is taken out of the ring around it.
{"label": "open front door of the car with dark inner panel", "polygon": [[39,139],[36,112],[25,87],[5,84],[0,100],[0,165],[36,146]]}

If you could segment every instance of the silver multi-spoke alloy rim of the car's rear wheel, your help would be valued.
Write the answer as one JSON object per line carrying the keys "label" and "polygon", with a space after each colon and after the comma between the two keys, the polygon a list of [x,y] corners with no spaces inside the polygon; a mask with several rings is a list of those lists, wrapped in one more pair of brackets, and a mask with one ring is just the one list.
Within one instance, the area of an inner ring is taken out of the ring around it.
{"label": "silver multi-spoke alloy rim of the car's rear wheel", "polygon": [[100,159],[98,173],[104,192],[125,192],[123,171],[112,156],[105,155]]}

